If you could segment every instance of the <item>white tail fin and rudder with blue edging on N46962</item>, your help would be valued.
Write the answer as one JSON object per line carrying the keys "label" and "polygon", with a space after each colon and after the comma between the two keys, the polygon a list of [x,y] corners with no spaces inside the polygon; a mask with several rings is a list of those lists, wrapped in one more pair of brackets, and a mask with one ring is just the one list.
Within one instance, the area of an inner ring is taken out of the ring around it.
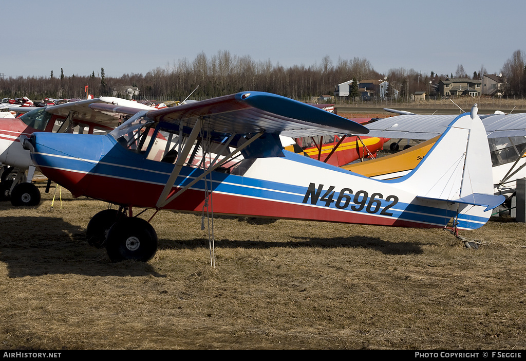
{"label": "white tail fin and rudder with blue edging on N46962", "polygon": [[456,208],[457,223],[468,229],[484,224],[505,199],[493,195],[488,138],[477,111],[474,105],[455,118],[411,173],[390,181],[416,190],[422,202]]}

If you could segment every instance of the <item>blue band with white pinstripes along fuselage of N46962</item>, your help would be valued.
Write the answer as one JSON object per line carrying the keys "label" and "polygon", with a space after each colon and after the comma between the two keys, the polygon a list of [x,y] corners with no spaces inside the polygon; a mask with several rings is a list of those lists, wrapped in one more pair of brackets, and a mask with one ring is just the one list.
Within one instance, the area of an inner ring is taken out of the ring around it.
{"label": "blue band with white pinstripes along fuselage of N46962", "polygon": [[[56,135],[56,134],[55,134]],[[75,137],[82,135],[75,135]],[[75,137],[69,137],[73,139],[75,143],[81,140],[75,139]],[[93,135],[86,136],[94,137]],[[83,151],[79,152],[79,156],[73,157],[72,154],[65,154],[64,152],[57,151],[53,147],[39,145],[37,154],[34,154],[35,161],[39,165],[51,166],[53,168],[69,169],[75,172],[92,173],[100,176],[109,176],[116,178],[129,179],[131,181],[139,181],[145,183],[153,183],[164,185],[168,181],[168,177],[174,168],[173,164],[149,161],[145,159],[143,154],[137,154],[129,151],[128,149],[121,147],[116,144],[115,139],[109,136],[96,136],[96,139],[90,146],[93,147],[91,152],[89,148],[83,147]],[[67,139],[68,137],[64,137]],[[100,161],[97,161],[93,157],[93,151],[95,146],[100,146],[100,139],[107,139],[103,141],[103,149],[101,152]],[[84,141],[84,139],[82,139]],[[62,145],[61,145],[62,147]],[[68,149],[67,146],[64,149]],[[74,148],[72,148],[74,149]],[[308,164],[318,168],[330,169],[331,171],[350,174],[350,172],[340,169],[338,167],[321,163],[310,157],[298,155],[291,152],[284,152],[286,158],[291,161]],[[83,158],[84,157],[84,158]],[[90,159],[89,161],[83,159]],[[148,169],[145,169],[148,168]],[[180,172],[180,176],[177,178],[175,185],[184,186],[189,182],[193,181],[196,177],[203,173],[202,169],[183,167]],[[212,172],[211,173],[213,184],[208,183],[208,189],[214,189],[215,192],[221,192],[224,194],[231,194],[235,196],[246,196],[246,197],[257,197],[261,199],[268,199],[277,202],[284,202],[290,204],[299,204],[305,206],[315,207],[328,207],[335,210],[342,210],[336,207],[336,200],[338,193],[333,195],[333,202],[326,202],[325,200],[318,199],[315,205],[311,204],[311,199],[306,200],[307,203],[303,203],[308,187],[298,186],[291,184],[284,184],[278,182],[264,181],[256,178],[248,178],[244,176],[225,174]],[[207,176],[209,178],[209,176]],[[205,181],[201,180],[194,184],[192,189],[205,189]],[[328,189],[328,187],[327,187]],[[326,190],[321,192],[321,195],[325,194]],[[338,190],[339,191],[339,190]],[[352,196],[354,199],[354,196]],[[365,203],[369,203],[370,198],[367,198]],[[341,206],[341,201],[339,204]],[[381,207],[378,212],[368,213],[366,207],[363,207],[360,211],[353,211],[352,206],[356,206],[355,202],[351,200],[345,210],[349,212],[349,216],[352,217],[354,212],[378,216],[381,209],[386,207],[389,202],[385,199],[379,199]],[[446,210],[443,208],[436,208],[431,206],[423,206],[417,204],[408,204],[398,202],[395,206],[389,208],[388,213],[392,214],[392,218],[398,218],[401,220],[407,220],[409,222],[418,222],[426,224],[438,224],[446,225],[451,217],[455,215],[455,212]],[[386,216],[387,217],[387,216]],[[476,223],[484,223],[487,219],[483,217],[467,217],[459,216],[459,222],[466,228],[473,228]],[[480,226],[480,225],[479,225]]]}

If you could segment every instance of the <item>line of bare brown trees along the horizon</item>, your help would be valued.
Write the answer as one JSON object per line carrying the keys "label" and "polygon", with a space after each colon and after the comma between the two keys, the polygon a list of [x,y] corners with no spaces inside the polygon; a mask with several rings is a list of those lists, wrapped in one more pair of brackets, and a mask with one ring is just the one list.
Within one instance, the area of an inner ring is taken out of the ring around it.
{"label": "line of bare brown trees along the horizon", "polygon": [[[487,71],[481,65],[473,72],[473,78],[481,78]],[[518,50],[513,53],[501,73],[507,78],[507,94],[523,96],[526,92],[526,56]],[[228,51],[219,51],[213,56],[199,53],[189,61],[179,59],[164,67],[157,67],[145,75],[123,74],[121,77],[106,77],[104,68],[97,69],[89,76],[64,75],[50,72],[49,77],[7,77],[0,79],[1,97],[22,97],[31,99],[84,98],[85,87],[95,96],[113,95],[119,85],[136,86],[140,99],[182,100],[199,86],[192,95],[194,99],[210,98],[241,91],[262,91],[283,95],[301,101],[311,101],[320,95],[333,95],[339,83],[351,79],[384,79],[389,82],[389,91],[396,89],[402,97],[415,91],[433,94],[433,84],[448,77],[469,78],[462,64],[453,75],[422,74],[414,69],[391,68],[387,74],[380,74],[366,58],[339,58],[336,64],[326,55],[319,64],[311,66],[293,65],[284,67],[273,64],[270,59],[255,61],[249,55],[237,56]]]}

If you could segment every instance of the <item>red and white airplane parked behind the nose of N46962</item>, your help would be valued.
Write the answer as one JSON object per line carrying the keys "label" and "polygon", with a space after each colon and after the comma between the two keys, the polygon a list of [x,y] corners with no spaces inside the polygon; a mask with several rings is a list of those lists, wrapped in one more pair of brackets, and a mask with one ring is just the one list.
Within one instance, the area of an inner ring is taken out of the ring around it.
{"label": "red and white airplane parked behind the nose of N46962", "polygon": [[22,148],[21,138],[34,132],[107,133],[129,117],[128,113],[94,111],[89,107],[93,103],[127,107],[135,112],[155,109],[126,99],[100,97],[44,107],[18,107],[16,112],[27,112],[21,112],[17,118],[0,117],[1,200],[10,199],[16,206],[40,202],[40,192],[31,184],[35,166],[29,152]]}

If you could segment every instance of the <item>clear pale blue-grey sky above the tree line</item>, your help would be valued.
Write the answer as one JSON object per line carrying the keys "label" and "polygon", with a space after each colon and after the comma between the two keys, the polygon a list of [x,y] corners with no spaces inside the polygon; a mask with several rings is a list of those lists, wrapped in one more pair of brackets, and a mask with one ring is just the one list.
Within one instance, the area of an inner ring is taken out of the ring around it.
{"label": "clear pale blue-grey sky above the tree line", "polygon": [[[4,77],[107,77],[171,68],[219,51],[285,67],[329,55],[366,58],[380,74],[500,72],[526,51],[524,0],[3,2]],[[348,79],[342,79],[347,81]],[[255,89],[257,90],[257,89]]]}

